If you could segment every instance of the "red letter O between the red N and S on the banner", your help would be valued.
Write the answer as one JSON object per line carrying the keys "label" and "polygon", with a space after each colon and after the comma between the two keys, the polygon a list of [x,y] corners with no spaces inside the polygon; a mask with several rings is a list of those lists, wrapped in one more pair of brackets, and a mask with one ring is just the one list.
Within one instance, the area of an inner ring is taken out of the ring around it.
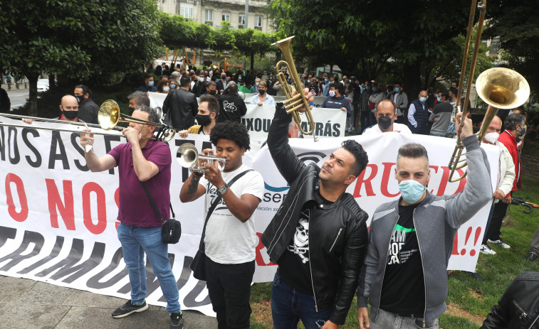
{"label": "red letter O between the red N and S on the banner", "polygon": [[[90,193],[95,192],[98,205],[98,223],[92,221],[92,208],[90,204]],[[86,183],[83,186],[83,217],[84,226],[93,234],[101,234],[107,227],[107,207],[105,205],[105,191],[98,183]]]}

